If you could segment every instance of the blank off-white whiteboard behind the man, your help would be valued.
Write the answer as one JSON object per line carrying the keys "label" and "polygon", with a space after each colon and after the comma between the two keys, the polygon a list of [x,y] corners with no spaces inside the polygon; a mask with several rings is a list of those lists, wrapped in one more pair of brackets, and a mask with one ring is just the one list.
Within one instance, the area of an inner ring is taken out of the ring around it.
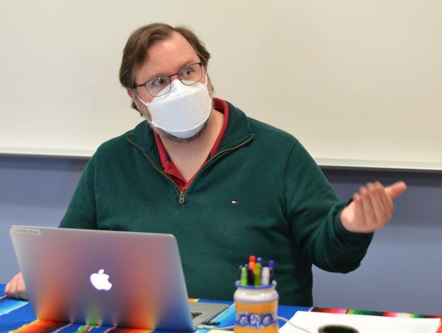
{"label": "blank off-white whiteboard behind the man", "polygon": [[318,164],[442,170],[442,1],[2,1],[0,154],[89,157],[142,119],[118,82],[130,33],[187,25],[215,96]]}

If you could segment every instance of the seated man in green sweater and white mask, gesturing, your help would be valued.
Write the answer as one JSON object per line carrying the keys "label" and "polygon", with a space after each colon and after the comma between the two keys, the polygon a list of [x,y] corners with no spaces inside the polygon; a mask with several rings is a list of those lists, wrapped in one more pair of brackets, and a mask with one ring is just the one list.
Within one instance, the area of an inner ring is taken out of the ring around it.
{"label": "seated man in green sweater and white mask, gesturing", "polygon": [[[98,148],[60,227],[174,234],[193,298],[231,300],[239,264],[273,259],[279,303],[312,305],[312,263],[356,269],[406,186],[340,202],[297,139],[212,98],[209,58],[186,28],[130,36],[120,82],[146,121]],[[27,298],[20,274],[6,293]]]}

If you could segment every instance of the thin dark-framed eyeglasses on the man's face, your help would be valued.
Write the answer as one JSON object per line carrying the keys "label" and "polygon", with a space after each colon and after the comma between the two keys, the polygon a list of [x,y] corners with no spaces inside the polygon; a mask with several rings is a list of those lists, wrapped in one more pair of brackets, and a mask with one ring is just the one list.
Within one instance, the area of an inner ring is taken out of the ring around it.
{"label": "thin dark-framed eyeglasses on the man's face", "polygon": [[135,87],[145,87],[152,97],[163,96],[170,91],[170,83],[172,82],[170,78],[175,75],[177,75],[178,79],[185,85],[192,85],[201,81],[202,61],[186,66],[176,73],[159,76],[145,83],[135,84]]}

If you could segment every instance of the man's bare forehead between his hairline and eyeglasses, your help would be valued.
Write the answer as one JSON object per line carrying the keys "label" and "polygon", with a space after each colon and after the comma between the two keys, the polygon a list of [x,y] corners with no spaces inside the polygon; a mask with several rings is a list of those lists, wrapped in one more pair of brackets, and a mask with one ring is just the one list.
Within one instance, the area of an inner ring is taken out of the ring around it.
{"label": "man's bare forehead between his hairline and eyeglasses", "polygon": [[180,33],[173,32],[169,39],[158,41],[148,49],[146,60],[136,75],[136,81],[175,73],[183,65],[199,61],[187,39]]}

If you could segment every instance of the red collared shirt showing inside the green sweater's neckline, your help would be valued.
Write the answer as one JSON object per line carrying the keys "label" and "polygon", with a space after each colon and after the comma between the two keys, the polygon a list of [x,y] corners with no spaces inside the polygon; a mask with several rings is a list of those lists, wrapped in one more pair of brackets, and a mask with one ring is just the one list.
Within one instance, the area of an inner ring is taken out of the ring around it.
{"label": "red collared shirt showing inside the green sweater's neckline", "polygon": [[[225,131],[227,130],[227,124],[229,123],[229,107],[227,103],[220,98],[213,98],[213,103],[215,110],[224,113],[224,122],[222,124],[221,132],[218,135],[215,144],[210,151],[207,160],[212,158],[220,149],[222,138],[224,138]],[[166,148],[164,147],[163,141],[161,141],[160,136],[154,132],[155,141],[157,143],[158,152],[160,154],[161,165],[163,167],[163,171],[178,185],[181,191],[187,189],[187,187],[192,182],[195,177],[196,172],[189,181],[186,182],[181,172],[175,167],[173,162],[170,160],[169,154],[167,154]],[[205,162],[204,162],[205,163]],[[204,164],[203,164],[204,165]],[[202,166],[201,166],[202,167]]]}

